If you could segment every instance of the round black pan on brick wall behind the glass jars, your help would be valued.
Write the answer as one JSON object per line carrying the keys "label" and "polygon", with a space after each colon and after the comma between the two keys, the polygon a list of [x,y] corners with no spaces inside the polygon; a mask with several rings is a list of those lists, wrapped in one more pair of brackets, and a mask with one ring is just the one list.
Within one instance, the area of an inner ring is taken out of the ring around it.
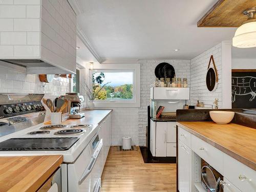
{"label": "round black pan on brick wall behind the glass jars", "polygon": [[175,69],[167,62],[161,62],[155,68],[155,75],[157,78],[170,78],[175,76]]}

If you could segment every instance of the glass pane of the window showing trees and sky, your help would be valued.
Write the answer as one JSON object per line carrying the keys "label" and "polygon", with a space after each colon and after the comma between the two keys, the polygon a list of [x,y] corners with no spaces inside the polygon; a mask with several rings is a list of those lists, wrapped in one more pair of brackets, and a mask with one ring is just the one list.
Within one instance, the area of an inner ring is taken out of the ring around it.
{"label": "glass pane of the window showing trees and sky", "polygon": [[96,100],[133,100],[133,72],[93,71]]}

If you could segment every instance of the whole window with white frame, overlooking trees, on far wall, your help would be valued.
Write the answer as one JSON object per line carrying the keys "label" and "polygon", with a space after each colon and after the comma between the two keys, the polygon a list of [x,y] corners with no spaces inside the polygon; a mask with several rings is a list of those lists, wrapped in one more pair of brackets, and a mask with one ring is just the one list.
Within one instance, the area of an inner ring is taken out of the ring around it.
{"label": "whole window with white frame, overlooking trees, on far wall", "polygon": [[96,107],[140,106],[140,64],[99,64],[87,67],[87,81],[93,93]]}

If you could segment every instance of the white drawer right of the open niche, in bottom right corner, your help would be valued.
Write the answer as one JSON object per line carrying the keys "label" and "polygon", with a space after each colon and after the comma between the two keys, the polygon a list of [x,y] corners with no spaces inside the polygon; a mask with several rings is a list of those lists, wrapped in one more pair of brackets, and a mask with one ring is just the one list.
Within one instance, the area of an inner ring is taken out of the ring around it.
{"label": "white drawer right of the open niche, in bottom right corner", "polygon": [[[224,154],[223,176],[241,191],[256,191],[256,172],[243,163]],[[244,177],[244,178],[242,178]]]}

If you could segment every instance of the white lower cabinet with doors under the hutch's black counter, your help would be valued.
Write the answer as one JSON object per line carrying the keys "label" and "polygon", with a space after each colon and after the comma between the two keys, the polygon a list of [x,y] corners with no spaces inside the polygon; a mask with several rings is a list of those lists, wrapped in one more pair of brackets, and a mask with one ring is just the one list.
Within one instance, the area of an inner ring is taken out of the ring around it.
{"label": "white lower cabinet with doors under the hutch's black counter", "polygon": [[150,122],[150,151],[154,157],[176,157],[176,122]]}

